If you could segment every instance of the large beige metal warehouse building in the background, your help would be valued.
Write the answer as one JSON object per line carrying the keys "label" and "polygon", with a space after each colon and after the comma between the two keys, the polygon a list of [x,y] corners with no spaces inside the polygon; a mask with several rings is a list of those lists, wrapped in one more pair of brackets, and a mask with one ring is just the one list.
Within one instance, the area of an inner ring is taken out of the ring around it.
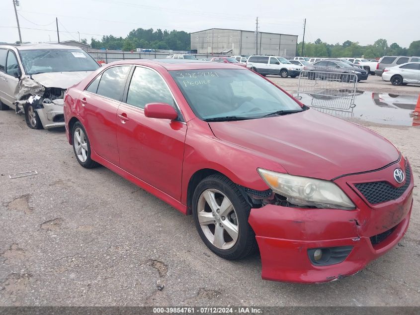
{"label": "large beige metal warehouse building in the background", "polygon": [[298,36],[258,32],[258,47],[253,31],[211,28],[191,33],[191,50],[199,54],[296,55]]}

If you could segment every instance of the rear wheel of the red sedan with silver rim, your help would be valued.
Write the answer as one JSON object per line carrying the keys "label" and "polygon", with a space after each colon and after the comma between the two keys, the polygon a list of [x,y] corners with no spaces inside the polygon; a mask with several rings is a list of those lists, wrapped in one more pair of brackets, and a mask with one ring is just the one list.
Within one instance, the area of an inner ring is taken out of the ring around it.
{"label": "rear wheel of the red sedan with silver rim", "polygon": [[84,168],[94,168],[99,164],[90,158],[90,142],[86,130],[80,121],[77,121],[72,130],[73,150],[79,164]]}

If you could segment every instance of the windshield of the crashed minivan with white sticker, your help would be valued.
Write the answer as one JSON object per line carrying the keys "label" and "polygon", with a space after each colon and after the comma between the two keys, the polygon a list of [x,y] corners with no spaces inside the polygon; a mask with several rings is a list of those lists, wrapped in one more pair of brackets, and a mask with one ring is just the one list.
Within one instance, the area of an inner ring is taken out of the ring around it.
{"label": "windshield of the crashed minivan with white sticker", "polygon": [[97,62],[82,49],[19,50],[28,75],[46,72],[94,71]]}

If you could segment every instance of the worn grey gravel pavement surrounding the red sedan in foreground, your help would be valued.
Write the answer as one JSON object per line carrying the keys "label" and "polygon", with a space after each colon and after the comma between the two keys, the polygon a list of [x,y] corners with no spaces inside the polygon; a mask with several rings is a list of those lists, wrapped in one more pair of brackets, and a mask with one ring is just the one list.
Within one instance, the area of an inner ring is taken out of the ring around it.
{"label": "worn grey gravel pavement surrounding the red sedan in foreground", "polygon": [[[409,157],[419,182],[420,128],[363,124]],[[0,111],[0,139],[0,306],[420,306],[419,187],[400,246],[363,271],[269,282],[258,256],[223,260],[191,216],[104,167],[83,169],[62,129],[31,130]],[[30,170],[38,175],[8,178]]]}

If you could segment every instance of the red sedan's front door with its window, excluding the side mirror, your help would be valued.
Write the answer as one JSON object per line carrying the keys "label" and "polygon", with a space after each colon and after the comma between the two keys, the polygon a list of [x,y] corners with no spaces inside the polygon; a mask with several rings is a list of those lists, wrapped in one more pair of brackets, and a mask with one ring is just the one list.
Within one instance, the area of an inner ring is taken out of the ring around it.
{"label": "red sedan's front door with its window, excluding the side mirror", "polygon": [[[180,200],[186,124],[163,77],[154,69],[132,71],[125,101],[117,112],[117,140],[121,167],[142,181]],[[178,119],[144,115],[149,103],[165,103]]]}

